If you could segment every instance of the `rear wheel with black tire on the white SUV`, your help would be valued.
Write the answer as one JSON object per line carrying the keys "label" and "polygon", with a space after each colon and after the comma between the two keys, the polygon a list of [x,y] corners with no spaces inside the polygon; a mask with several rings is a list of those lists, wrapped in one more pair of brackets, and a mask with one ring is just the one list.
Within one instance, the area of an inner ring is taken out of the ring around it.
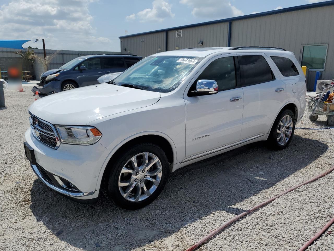
{"label": "rear wheel with black tire on the white SUV", "polygon": [[[286,126],[284,126],[284,121],[287,121]],[[275,119],[267,139],[268,146],[274,150],[282,150],[288,147],[295,132],[295,123],[295,115],[290,109],[281,111]]]}

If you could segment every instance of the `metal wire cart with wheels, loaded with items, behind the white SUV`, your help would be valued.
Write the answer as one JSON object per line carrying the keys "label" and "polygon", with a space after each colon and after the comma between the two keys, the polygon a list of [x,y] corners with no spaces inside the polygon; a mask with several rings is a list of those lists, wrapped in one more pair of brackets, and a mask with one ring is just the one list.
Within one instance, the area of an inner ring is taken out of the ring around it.
{"label": "metal wire cart with wheels, loaded with items, behind the white SUV", "polygon": [[[328,87],[326,88],[326,86]],[[309,100],[309,111],[312,112],[309,116],[311,121],[316,121],[318,115],[326,115],[328,126],[334,126],[334,103],[321,100],[327,90],[332,87],[332,84],[325,84],[321,95]]]}

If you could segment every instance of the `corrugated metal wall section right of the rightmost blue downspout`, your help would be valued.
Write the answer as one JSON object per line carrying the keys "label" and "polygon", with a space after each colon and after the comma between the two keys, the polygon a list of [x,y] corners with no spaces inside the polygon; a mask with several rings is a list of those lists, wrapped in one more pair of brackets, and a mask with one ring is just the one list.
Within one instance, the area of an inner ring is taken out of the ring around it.
{"label": "corrugated metal wall section right of the rightmost blue downspout", "polygon": [[301,63],[302,45],[328,44],[323,79],[334,78],[334,6],[232,22],[231,46],[270,46],[292,51]]}

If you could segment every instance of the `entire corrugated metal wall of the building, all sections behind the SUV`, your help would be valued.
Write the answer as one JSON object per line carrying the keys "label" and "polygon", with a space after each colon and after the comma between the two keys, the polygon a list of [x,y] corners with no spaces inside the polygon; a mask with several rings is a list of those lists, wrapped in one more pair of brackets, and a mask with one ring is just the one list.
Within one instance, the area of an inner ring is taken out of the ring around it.
{"label": "entire corrugated metal wall of the building, all sections behind the SUV", "polygon": [[[302,45],[328,44],[325,71],[322,79],[334,78],[334,5],[294,10],[289,12],[232,20],[231,47],[269,46],[292,51],[301,63]],[[181,28],[179,28],[181,29]],[[176,30],[168,30],[168,51],[201,47],[227,47],[228,22],[182,28],[182,37],[176,37]],[[139,56],[149,56],[165,51],[165,32],[147,33],[138,36],[121,37],[124,48]],[[144,39],[144,42],[141,40]],[[310,76],[314,78],[314,71]]]}

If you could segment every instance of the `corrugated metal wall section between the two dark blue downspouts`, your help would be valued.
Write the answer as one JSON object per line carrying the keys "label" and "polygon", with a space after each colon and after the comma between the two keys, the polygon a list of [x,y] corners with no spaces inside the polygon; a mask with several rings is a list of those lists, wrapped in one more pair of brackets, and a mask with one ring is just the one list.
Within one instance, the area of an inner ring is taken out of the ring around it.
{"label": "corrugated metal wall section between the two dark blue downspouts", "polygon": [[185,48],[226,47],[228,37],[228,22],[182,29],[182,37],[176,37],[176,30],[168,31],[168,51]]}

